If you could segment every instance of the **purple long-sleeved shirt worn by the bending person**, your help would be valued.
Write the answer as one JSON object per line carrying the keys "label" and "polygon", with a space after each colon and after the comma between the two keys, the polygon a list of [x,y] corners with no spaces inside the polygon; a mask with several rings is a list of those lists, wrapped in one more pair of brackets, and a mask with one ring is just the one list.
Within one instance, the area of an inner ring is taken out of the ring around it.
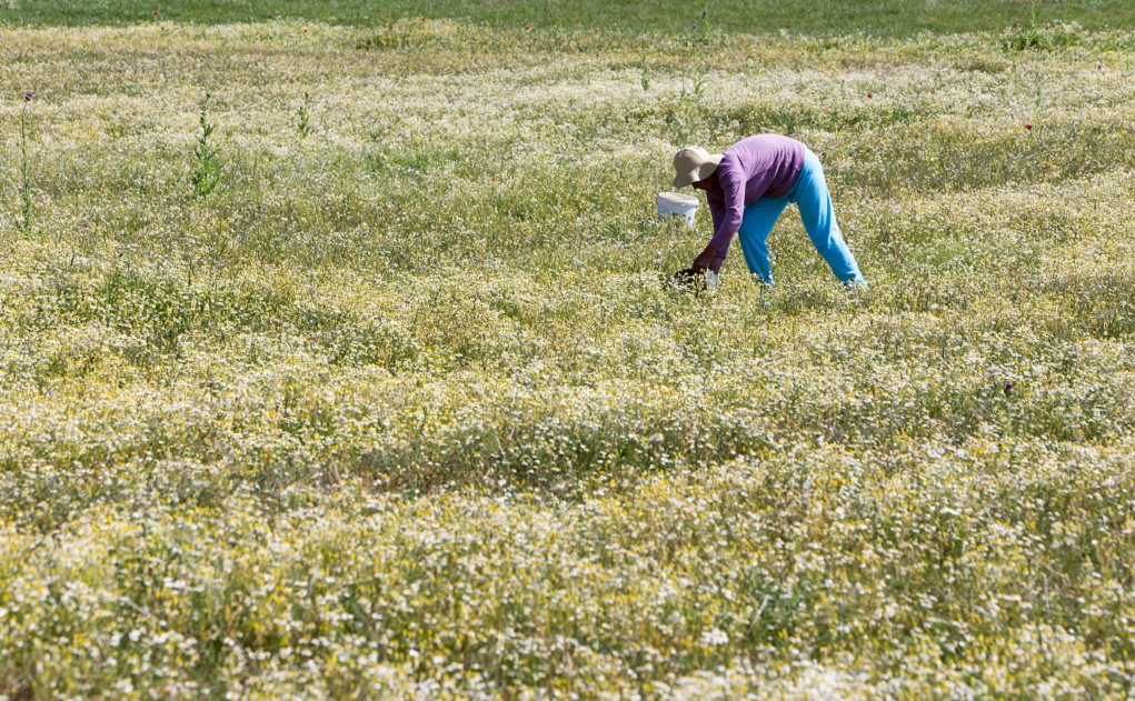
{"label": "purple long-sleeved shirt worn by the bending person", "polygon": [[804,168],[804,144],[777,134],[743,138],[725,151],[715,171],[716,187],[706,192],[717,250],[712,261],[697,261],[714,272],[721,269],[733,235],[741,227],[745,205],[760,197],[783,197]]}

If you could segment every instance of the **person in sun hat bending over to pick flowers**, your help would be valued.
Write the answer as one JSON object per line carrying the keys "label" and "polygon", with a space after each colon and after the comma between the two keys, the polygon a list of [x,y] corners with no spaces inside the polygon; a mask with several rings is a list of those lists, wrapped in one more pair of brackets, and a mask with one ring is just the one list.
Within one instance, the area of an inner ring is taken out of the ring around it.
{"label": "person in sun hat bending over to pick flowers", "polygon": [[765,242],[784,208],[796,204],[808,237],[835,277],[848,286],[867,286],[835,222],[819,159],[794,138],[760,134],[724,153],[690,146],[674,155],[674,187],[704,191],[713,214],[714,235],[693,260],[693,272],[721,270],[737,234],[749,271],[772,285]]}

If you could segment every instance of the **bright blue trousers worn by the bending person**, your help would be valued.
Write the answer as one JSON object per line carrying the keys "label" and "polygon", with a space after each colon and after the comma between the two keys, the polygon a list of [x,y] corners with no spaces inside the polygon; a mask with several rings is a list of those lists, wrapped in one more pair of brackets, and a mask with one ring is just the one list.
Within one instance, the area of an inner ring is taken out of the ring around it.
{"label": "bright blue trousers worn by the bending person", "polygon": [[787,196],[762,197],[746,205],[741,228],[737,234],[741,239],[741,251],[745,252],[749,272],[759,276],[768,285],[773,284],[766,240],[776,219],[789,204],[796,204],[800,209],[800,219],[808,231],[808,238],[831,265],[835,277],[844,285],[866,287],[867,281],[859,273],[855,256],[840,234],[840,225],[835,222],[835,210],[832,209],[832,196],[824,181],[824,169],[812,149],[805,149],[804,168]]}

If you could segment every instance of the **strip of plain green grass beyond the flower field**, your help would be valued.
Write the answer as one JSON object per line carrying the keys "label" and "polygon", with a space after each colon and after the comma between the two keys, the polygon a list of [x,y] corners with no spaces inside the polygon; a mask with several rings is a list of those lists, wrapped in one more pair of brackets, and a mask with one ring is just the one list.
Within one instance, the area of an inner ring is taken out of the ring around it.
{"label": "strip of plain green grass beyond the flower field", "polygon": [[[597,2],[521,0],[271,0],[268,2],[185,0],[17,0],[0,9],[0,22],[14,25],[137,24],[153,11],[169,22],[218,24],[276,18],[377,27],[403,18],[448,18],[495,27],[535,25],[540,29],[688,33],[701,23],[747,34],[855,34],[911,36],[918,32],[997,32],[1023,26],[1076,22],[1092,29],[1135,26],[1135,7],[1126,0],[722,0],[681,3],[650,0]],[[703,20],[701,12],[707,17]]]}

